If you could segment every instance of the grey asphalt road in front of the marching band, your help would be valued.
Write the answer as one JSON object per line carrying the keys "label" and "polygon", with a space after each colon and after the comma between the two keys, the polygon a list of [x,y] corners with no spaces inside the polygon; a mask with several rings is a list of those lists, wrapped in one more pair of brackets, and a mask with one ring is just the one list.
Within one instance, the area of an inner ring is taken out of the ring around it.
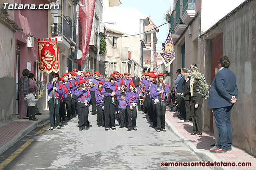
{"label": "grey asphalt road in front of the marching band", "polygon": [[142,111],[138,112],[137,131],[127,131],[119,125],[116,131],[104,131],[103,127],[97,127],[96,119],[97,115],[89,115],[90,128],[83,131],[76,127],[78,117],[60,130],[37,127],[0,155],[0,162],[4,161],[2,167],[4,170],[194,169],[161,167],[161,162],[203,162],[168,129],[157,133]]}

